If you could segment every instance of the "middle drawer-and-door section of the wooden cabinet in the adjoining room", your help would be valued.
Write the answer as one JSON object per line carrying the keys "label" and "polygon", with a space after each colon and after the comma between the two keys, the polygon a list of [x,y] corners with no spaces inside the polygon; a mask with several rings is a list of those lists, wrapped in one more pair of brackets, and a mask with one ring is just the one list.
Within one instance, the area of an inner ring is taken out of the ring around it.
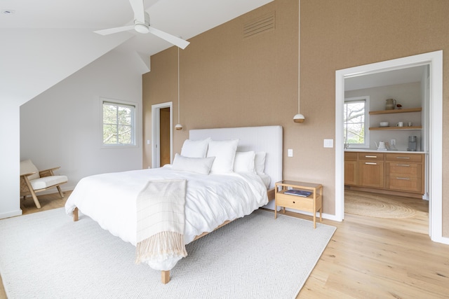
{"label": "middle drawer-and-door section of the wooden cabinet in the adjoining room", "polygon": [[384,188],[383,153],[358,153],[358,185]]}

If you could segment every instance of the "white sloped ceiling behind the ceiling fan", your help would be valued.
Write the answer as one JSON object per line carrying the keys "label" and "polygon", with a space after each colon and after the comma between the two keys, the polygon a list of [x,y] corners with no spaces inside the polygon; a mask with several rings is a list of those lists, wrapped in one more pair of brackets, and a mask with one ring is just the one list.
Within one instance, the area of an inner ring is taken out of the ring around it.
{"label": "white sloped ceiling behind the ceiling fan", "polygon": [[[190,39],[273,0],[145,0],[153,27]],[[0,1],[0,99],[23,104],[109,50],[143,60],[172,45],[152,34],[109,36],[130,25],[127,0]],[[137,57],[137,55],[136,55]]]}

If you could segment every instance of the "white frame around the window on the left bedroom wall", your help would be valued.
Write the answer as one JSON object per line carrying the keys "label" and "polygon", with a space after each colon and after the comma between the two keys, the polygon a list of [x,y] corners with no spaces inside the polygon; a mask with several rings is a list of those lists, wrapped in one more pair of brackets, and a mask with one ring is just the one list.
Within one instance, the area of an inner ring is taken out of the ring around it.
{"label": "white frame around the window on the left bedroom wall", "polygon": [[[130,144],[105,144],[103,143],[104,130],[104,106],[105,104],[112,104],[131,109],[131,143]],[[101,148],[135,148],[138,147],[138,104],[135,102],[126,102],[118,99],[109,99],[100,97],[100,143]]]}

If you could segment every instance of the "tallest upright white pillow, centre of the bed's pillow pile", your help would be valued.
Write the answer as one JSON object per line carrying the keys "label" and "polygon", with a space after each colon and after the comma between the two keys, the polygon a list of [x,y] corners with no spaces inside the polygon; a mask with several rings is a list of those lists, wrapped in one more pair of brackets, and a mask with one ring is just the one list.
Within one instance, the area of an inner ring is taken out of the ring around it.
{"label": "tallest upright white pillow, centre of the bed's pillow pile", "polygon": [[210,140],[208,157],[215,157],[210,172],[215,174],[232,172],[239,139]]}

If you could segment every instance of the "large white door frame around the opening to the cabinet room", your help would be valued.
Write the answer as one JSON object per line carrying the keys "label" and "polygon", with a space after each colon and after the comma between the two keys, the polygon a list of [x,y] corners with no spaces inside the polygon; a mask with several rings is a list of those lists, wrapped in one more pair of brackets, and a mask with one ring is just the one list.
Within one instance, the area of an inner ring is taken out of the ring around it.
{"label": "large white door frame around the opening to the cabinet room", "polygon": [[343,104],[344,79],[429,65],[429,235],[434,242],[449,244],[443,237],[443,51],[366,64],[335,71],[335,219],[344,219],[344,146]]}

